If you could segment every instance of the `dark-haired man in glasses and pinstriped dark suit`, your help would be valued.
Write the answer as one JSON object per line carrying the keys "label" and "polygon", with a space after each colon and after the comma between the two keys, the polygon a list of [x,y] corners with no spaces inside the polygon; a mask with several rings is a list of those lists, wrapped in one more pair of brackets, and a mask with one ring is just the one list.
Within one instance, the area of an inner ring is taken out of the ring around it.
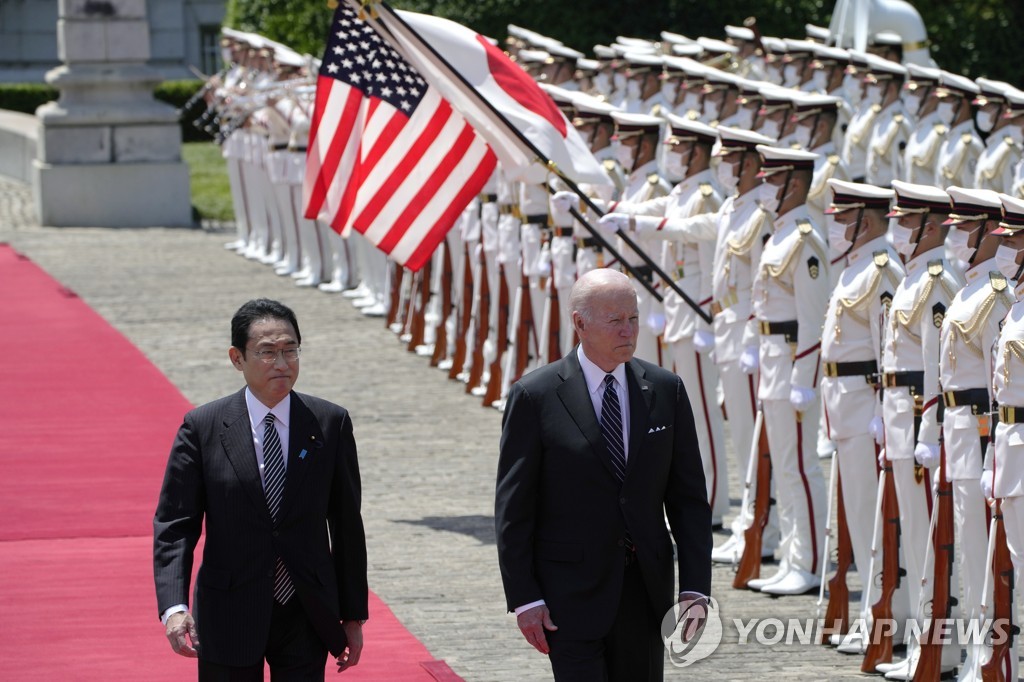
{"label": "dark-haired man in glasses and pinstriped dark suit", "polygon": [[[352,421],[292,390],[298,321],[276,301],[231,319],[228,356],[246,387],[185,415],[154,519],[157,601],[199,679],[323,680],[358,663],[367,549]],[[193,612],[193,553],[206,522]],[[186,639],[187,638],[187,639]],[[190,643],[189,643],[190,642]]]}

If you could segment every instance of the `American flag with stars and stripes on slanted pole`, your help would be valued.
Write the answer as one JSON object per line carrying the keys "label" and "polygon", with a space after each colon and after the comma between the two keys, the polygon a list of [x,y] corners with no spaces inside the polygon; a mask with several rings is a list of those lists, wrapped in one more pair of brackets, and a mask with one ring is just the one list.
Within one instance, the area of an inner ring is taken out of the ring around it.
{"label": "American flag with stars and stripes on slanted pole", "polygon": [[416,270],[494,168],[462,116],[340,3],[316,82],[306,217],[355,229]]}

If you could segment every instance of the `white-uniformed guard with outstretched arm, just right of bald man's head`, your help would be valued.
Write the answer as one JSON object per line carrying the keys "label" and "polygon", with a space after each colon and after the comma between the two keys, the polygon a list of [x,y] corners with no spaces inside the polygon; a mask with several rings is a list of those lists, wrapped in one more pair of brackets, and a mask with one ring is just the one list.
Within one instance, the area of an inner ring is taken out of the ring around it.
{"label": "white-uniformed guard with outstretched arm, just right of bald man's head", "polygon": [[[642,204],[618,204],[601,222],[635,232],[679,288],[710,310],[712,268],[718,238],[722,197],[712,184],[711,153],[718,139],[714,128],[668,115],[663,164],[679,179],[672,191]],[[718,369],[710,357],[714,348],[711,326],[672,290],[665,292],[665,333],[668,352],[663,367],[674,371],[688,386],[703,461],[712,518],[721,524],[729,511],[725,434],[719,418]],[[697,337],[700,341],[697,341]]]}

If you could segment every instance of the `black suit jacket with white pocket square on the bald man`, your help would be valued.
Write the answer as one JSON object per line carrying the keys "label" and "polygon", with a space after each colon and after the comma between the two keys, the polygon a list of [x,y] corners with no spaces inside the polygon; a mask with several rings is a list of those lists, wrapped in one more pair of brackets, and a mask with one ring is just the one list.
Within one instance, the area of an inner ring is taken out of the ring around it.
{"label": "black suit jacket with white pocket square on the bald man", "polygon": [[577,352],[509,391],[495,522],[509,610],[544,599],[560,636],[597,639],[622,593],[627,529],[660,617],[679,588],[711,594],[711,508],[682,381],[654,365],[626,366],[630,442],[620,483]]}

